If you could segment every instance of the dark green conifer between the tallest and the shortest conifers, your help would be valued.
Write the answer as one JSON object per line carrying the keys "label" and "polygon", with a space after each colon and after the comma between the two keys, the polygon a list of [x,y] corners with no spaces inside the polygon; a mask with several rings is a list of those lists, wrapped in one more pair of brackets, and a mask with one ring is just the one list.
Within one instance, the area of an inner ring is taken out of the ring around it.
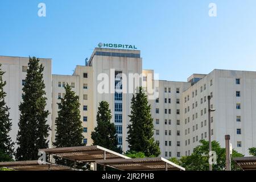
{"label": "dark green conifer between the tallest and the shortest conifers", "polygon": [[[55,147],[76,147],[83,146],[82,139],[82,121],[80,115],[79,96],[72,91],[71,86],[65,86],[64,98],[59,98],[60,103],[58,117],[56,118]],[[65,159],[56,158],[57,164],[69,165],[70,162]]]}

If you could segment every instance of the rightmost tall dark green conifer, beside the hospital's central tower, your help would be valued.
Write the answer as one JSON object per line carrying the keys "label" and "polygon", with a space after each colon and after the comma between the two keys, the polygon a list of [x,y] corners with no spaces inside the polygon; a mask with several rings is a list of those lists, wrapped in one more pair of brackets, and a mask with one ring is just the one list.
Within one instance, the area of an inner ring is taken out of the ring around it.
{"label": "rightmost tall dark green conifer, beside the hospital's central tower", "polygon": [[160,148],[154,140],[154,125],[151,117],[150,105],[142,87],[136,96],[131,99],[131,124],[128,125],[128,137],[130,151],[143,152],[146,156],[159,156]]}

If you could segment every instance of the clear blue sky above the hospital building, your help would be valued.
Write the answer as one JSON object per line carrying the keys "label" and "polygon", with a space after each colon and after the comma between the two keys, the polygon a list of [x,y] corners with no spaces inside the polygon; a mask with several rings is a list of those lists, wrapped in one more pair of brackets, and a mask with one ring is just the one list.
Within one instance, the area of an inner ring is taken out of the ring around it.
{"label": "clear blue sky above the hospital building", "polygon": [[[208,15],[211,2],[217,17]],[[71,75],[99,42],[137,46],[143,69],[161,80],[256,71],[255,34],[255,0],[0,1],[0,55],[52,58],[53,74]]]}

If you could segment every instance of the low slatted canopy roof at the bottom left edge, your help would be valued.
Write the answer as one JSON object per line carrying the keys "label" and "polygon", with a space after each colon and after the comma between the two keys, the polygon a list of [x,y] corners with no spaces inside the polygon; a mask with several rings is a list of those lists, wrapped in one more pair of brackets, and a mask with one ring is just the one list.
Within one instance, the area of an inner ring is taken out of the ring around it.
{"label": "low slatted canopy roof at the bottom left edge", "polygon": [[78,169],[61,166],[53,163],[39,164],[38,160],[27,160],[18,162],[2,162],[0,168],[9,168],[18,171],[76,171]]}

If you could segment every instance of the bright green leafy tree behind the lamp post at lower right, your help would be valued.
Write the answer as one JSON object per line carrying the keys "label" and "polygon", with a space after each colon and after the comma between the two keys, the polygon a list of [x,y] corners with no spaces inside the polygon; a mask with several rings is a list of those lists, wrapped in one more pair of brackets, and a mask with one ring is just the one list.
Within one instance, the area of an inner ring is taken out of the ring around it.
{"label": "bright green leafy tree behind the lamp post at lower right", "polygon": [[[201,145],[194,148],[193,153],[190,156],[182,156],[180,160],[172,159],[172,162],[184,167],[187,171],[208,171],[209,170],[209,142],[206,140],[200,140]],[[212,151],[216,152],[217,164],[213,164],[214,171],[222,171],[225,169],[226,150],[221,148],[220,144],[216,141],[212,141]],[[241,157],[242,154],[237,151],[232,151],[232,157]],[[232,170],[235,170],[235,164],[232,162]]]}

